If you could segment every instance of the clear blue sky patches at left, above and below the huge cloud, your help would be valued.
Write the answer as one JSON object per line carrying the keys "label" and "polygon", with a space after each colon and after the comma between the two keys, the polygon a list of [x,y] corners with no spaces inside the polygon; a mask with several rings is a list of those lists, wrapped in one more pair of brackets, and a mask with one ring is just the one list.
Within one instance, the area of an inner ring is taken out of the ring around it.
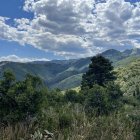
{"label": "clear blue sky patches at left, above and below the huge cloud", "polygon": [[[0,16],[11,19],[9,24],[12,25],[15,18],[33,18],[33,13],[23,10],[24,0],[1,0]],[[0,39],[0,57],[16,55],[21,58],[46,58],[46,59],[64,59],[63,57],[54,56],[52,52],[45,52],[34,48],[31,45],[22,46],[18,42]]]}

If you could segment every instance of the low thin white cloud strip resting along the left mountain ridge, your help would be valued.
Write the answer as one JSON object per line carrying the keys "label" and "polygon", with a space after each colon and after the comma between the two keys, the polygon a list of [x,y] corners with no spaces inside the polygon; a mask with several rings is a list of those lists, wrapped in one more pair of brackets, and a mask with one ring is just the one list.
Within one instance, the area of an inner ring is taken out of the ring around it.
{"label": "low thin white cloud strip resting along the left mountain ridge", "polygon": [[21,63],[26,63],[26,62],[33,62],[33,61],[49,61],[46,58],[21,58],[16,55],[9,55],[9,56],[3,56],[0,57],[0,62],[2,61],[10,61],[10,62],[21,62]]}

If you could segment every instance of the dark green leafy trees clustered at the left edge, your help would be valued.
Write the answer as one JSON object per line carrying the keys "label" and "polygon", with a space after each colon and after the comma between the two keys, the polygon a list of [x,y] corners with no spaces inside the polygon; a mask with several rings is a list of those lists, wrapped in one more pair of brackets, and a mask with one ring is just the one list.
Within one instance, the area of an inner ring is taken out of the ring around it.
{"label": "dark green leafy trees clustered at the left edge", "polygon": [[0,120],[4,123],[29,120],[41,110],[45,101],[42,81],[26,75],[24,81],[15,81],[10,71],[4,72],[0,81]]}

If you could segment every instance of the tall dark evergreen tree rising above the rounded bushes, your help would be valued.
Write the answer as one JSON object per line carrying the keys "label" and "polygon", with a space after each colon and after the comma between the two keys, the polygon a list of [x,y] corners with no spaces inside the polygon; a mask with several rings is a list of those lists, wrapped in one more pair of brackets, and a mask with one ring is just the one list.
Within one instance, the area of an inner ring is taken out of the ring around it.
{"label": "tall dark evergreen tree rising above the rounded bushes", "polygon": [[83,74],[81,89],[92,88],[97,84],[104,86],[107,82],[115,80],[112,63],[101,55],[91,59],[89,70]]}

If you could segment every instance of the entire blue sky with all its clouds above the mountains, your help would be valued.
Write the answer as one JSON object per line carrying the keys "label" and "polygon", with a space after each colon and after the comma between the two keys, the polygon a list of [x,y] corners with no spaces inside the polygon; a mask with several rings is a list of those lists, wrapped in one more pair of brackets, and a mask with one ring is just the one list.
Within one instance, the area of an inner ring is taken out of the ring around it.
{"label": "entire blue sky with all its clouds above the mountains", "polygon": [[0,61],[140,48],[140,0],[0,0]]}

